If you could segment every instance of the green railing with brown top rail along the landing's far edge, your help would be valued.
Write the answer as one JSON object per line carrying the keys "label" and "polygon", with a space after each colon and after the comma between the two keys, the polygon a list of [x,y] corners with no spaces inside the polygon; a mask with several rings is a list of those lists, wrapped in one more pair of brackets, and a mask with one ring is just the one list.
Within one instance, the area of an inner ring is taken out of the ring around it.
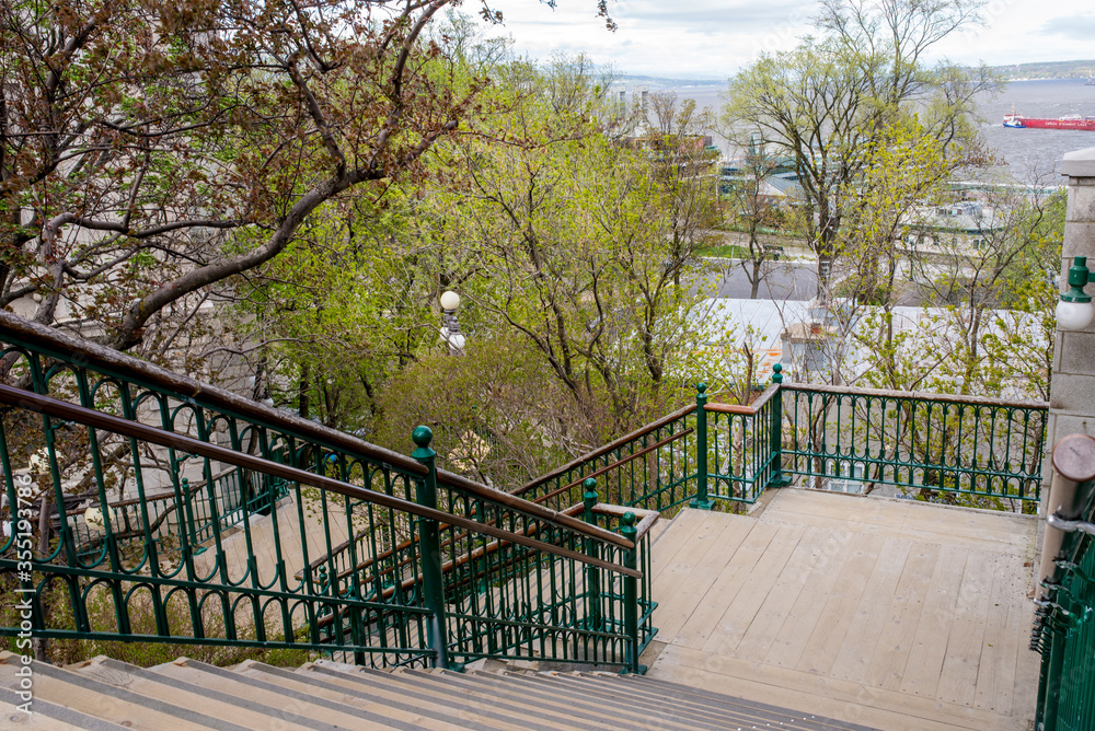
{"label": "green railing with brown top rail along the landing's far edge", "polygon": [[[769,487],[867,492],[892,485],[924,499],[963,496],[1006,509],[1041,494],[1045,402],[783,383],[749,405],[684,407],[517,490],[562,508],[595,476],[621,504],[753,503]],[[950,496],[950,497],[948,497]]]}

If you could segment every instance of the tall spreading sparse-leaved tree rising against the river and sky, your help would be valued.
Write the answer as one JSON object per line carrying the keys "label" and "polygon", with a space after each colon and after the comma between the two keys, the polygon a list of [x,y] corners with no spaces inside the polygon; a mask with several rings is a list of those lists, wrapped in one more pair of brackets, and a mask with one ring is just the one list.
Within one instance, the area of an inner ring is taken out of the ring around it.
{"label": "tall spreading sparse-leaved tree rising against the river and sky", "polygon": [[975,132],[972,100],[995,80],[984,69],[929,68],[922,58],[977,21],[976,4],[963,0],[831,0],[823,3],[819,38],[763,55],[730,80],[726,126],[758,130],[794,160],[805,204],[799,224],[817,257],[820,294],[843,251],[841,231],[855,206],[848,194],[894,119],[919,112],[923,134],[944,151]]}

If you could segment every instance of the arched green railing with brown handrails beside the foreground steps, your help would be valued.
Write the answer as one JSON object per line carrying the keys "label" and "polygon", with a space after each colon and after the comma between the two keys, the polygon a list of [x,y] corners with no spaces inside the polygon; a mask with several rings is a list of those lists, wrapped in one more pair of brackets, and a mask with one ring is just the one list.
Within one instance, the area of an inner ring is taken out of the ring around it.
{"label": "arched green railing with brown handrails beside the foreground steps", "polygon": [[7,313],[0,343],[0,582],[34,637],[638,670],[626,525],[439,473],[425,428],[407,457]]}

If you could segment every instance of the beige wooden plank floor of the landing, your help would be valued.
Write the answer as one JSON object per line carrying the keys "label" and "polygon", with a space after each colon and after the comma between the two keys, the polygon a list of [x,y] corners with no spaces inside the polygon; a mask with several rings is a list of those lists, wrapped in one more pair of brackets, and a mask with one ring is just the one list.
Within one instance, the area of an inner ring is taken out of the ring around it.
{"label": "beige wooden plank floor of the landing", "polygon": [[1037,522],[783,489],[654,544],[648,674],[884,731],[1027,731]]}

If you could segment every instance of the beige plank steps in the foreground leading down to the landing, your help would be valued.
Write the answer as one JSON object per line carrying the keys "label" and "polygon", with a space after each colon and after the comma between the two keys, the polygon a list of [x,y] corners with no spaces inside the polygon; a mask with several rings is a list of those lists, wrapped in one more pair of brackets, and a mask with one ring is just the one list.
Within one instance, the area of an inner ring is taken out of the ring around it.
{"label": "beige plank steps in the foreground leading down to the landing", "polygon": [[0,655],[4,729],[866,729],[641,676],[381,672],[323,660],[228,670],[185,658],[147,670],[107,658],[35,663],[28,716],[16,708],[19,661]]}

